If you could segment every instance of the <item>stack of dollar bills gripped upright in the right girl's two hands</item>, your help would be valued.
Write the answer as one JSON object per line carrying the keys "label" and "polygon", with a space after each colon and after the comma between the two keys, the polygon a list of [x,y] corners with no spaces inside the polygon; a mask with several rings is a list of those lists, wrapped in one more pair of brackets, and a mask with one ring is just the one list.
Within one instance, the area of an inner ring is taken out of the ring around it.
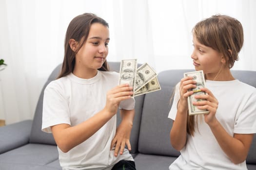
{"label": "stack of dollar bills gripped upright in the right girl's two hands", "polygon": [[189,115],[208,114],[209,113],[208,110],[198,109],[197,106],[193,104],[193,102],[202,101],[202,99],[199,99],[199,100],[195,99],[195,95],[205,94],[204,91],[200,90],[200,88],[205,86],[203,70],[184,73],[184,77],[187,77],[187,76],[193,77],[193,80],[197,82],[196,84],[197,87],[190,89],[190,90],[193,90],[194,93],[188,97]]}

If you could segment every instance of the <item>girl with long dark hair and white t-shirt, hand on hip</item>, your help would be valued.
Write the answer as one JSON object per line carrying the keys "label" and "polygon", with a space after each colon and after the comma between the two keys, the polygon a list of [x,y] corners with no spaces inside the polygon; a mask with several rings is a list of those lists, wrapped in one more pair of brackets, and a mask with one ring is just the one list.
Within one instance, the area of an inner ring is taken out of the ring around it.
{"label": "girl with long dark hair and white t-shirt, hand on hip", "polygon": [[[135,101],[108,70],[108,23],[85,13],[69,24],[57,80],[44,91],[42,130],[52,133],[63,170],[136,170],[131,150]],[[116,129],[116,113],[122,121]]]}

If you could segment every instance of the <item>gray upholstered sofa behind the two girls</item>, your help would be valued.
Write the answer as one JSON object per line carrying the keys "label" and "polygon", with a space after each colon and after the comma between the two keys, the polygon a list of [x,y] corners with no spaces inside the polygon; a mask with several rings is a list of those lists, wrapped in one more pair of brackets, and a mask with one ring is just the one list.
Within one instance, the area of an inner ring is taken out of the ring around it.
{"label": "gray upholstered sofa behind the two girls", "polygon": [[[110,68],[119,71],[119,63],[110,62]],[[0,170],[61,170],[53,136],[41,132],[43,90],[56,78],[59,70],[60,65],[45,83],[33,120],[0,127]],[[161,90],[135,98],[136,116],[130,140],[137,170],[168,170],[179,155],[170,144],[172,121],[167,116],[172,90],[187,71],[191,70],[159,72]],[[233,75],[256,87],[256,71],[234,70]],[[248,170],[256,170],[256,136],[246,161]]]}

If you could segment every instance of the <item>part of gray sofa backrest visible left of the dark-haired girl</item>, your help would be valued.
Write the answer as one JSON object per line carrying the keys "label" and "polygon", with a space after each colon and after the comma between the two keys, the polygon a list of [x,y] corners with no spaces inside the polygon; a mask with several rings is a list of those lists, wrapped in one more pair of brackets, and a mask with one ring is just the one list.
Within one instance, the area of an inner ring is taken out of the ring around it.
{"label": "part of gray sofa backrest visible left of the dark-haired girl", "polygon": [[42,127],[42,103],[43,103],[43,92],[45,87],[53,80],[57,78],[59,75],[59,71],[61,70],[61,64],[57,66],[49,76],[48,80],[44,84],[41,94],[39,96],[39,100],[36,107],[36,112],[33,119],[33,124],[31,128],[30,133],[30,143],[41,143],[41,144],[50,144],[50,145],[56,145],[56,142],[53,138],[52,134],[48,134],[41,131]]}

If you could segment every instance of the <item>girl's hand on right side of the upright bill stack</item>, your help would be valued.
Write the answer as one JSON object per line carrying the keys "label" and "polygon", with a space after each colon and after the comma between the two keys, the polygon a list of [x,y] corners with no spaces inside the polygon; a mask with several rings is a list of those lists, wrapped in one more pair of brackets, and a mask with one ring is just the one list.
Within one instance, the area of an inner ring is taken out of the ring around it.
{"label": "girl's hand on right side of the upright bill stack", "polygon": [[215,114],[218,108],[218,101],[208,88],[200,88],[200,90],[206,92],[206,94],[195,95],[195,99],[205,99],[206,101],[193,102],[193,104],[197,105],[198,109],[207,109],[210,111],[209,114],[204,115],[204,121],[210,125],[217,120]]}

